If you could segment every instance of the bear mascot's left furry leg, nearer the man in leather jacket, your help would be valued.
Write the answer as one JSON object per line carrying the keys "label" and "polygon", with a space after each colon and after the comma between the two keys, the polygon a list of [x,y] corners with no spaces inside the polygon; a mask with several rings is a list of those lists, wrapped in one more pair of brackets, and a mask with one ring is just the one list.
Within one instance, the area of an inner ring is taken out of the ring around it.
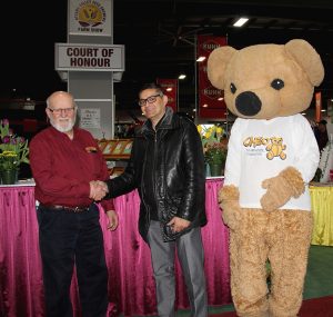
{"label": "bear mascot's left furry leg, nearer the man in leather jacket", "polygon": [[261,209],[242,209],[236,230],[230,230],[231,293],[240,317],[269,316],[265,228]]}

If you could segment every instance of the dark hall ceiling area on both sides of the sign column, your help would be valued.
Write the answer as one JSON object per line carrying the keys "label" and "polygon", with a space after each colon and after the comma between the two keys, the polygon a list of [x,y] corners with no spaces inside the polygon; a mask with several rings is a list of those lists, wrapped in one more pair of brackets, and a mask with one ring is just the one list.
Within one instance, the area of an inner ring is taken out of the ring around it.
{"label": "dark hall ceiling area on both sides of the sign column", "polygon": [[[0,98],[31,98],[44,102],[54,90],[67,89],[54,70],[54,43],[67,42],[69,0],[4,1],[0,66]],[[236,18],[250,20],[242,28]],[[325,79],[323,100],[333,98],[332,0],[113,0],[114,44],[125,47],[125,71],[114,83],[115,111],[140,112],[137,91],[142,82],[178,78],[181,111],[195,107],[195,39],[198,34],[228,37],[236,49],[256,43],[307,40],[321,55]]]}

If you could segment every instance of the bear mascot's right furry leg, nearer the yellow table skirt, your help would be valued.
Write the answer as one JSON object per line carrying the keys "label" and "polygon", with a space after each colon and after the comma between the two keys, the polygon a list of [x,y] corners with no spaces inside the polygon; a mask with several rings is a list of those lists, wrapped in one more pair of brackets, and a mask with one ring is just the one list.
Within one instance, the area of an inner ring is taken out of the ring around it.
{"label": "bear mascot's right furry leg, nearer the yellow table skirt", "polygon": [[270,296],[272,317],[297,316],[302,305],[312,226],[312,215],[309,211],[271,212],[269,258],[272,269]]}

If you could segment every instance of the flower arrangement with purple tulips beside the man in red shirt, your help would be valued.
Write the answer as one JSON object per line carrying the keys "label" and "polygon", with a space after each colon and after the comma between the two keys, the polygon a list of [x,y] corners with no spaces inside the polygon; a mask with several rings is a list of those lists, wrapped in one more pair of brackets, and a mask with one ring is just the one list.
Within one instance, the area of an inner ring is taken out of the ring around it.
{"label": "flower arrangement with purple tulips beside the man in red shirt", "polygon": [[9,128],[8,119],[0,120],[0,171],[18,170],[21,162],[29,164],[28,140]]}

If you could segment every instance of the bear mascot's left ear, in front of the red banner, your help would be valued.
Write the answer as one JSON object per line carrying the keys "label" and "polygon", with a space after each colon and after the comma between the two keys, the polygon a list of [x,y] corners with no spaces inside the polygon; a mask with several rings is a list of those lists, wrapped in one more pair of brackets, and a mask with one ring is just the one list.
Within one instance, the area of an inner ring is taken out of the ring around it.
{"label": "bear mascot's left ear, in front of the red banner", "polygon": [[225,68],[235,52],[236,50],[232,47],[221,47],[211,52],[208,59],[206,72],[209,80],[214,87],[224,89]]}

